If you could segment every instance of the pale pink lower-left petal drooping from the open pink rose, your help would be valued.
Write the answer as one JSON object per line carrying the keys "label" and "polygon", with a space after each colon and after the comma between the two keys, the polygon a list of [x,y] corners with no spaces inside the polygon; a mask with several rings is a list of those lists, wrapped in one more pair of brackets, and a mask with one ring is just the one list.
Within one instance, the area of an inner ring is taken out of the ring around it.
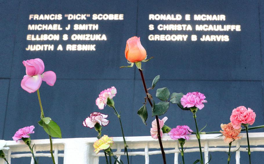
{"label": "pale pink lower-left petal drooping from the open pink rose", "polygon": [[36,92],[42,83],[41,75],[24,76],[21,81],[21,87],[28,93]]}

